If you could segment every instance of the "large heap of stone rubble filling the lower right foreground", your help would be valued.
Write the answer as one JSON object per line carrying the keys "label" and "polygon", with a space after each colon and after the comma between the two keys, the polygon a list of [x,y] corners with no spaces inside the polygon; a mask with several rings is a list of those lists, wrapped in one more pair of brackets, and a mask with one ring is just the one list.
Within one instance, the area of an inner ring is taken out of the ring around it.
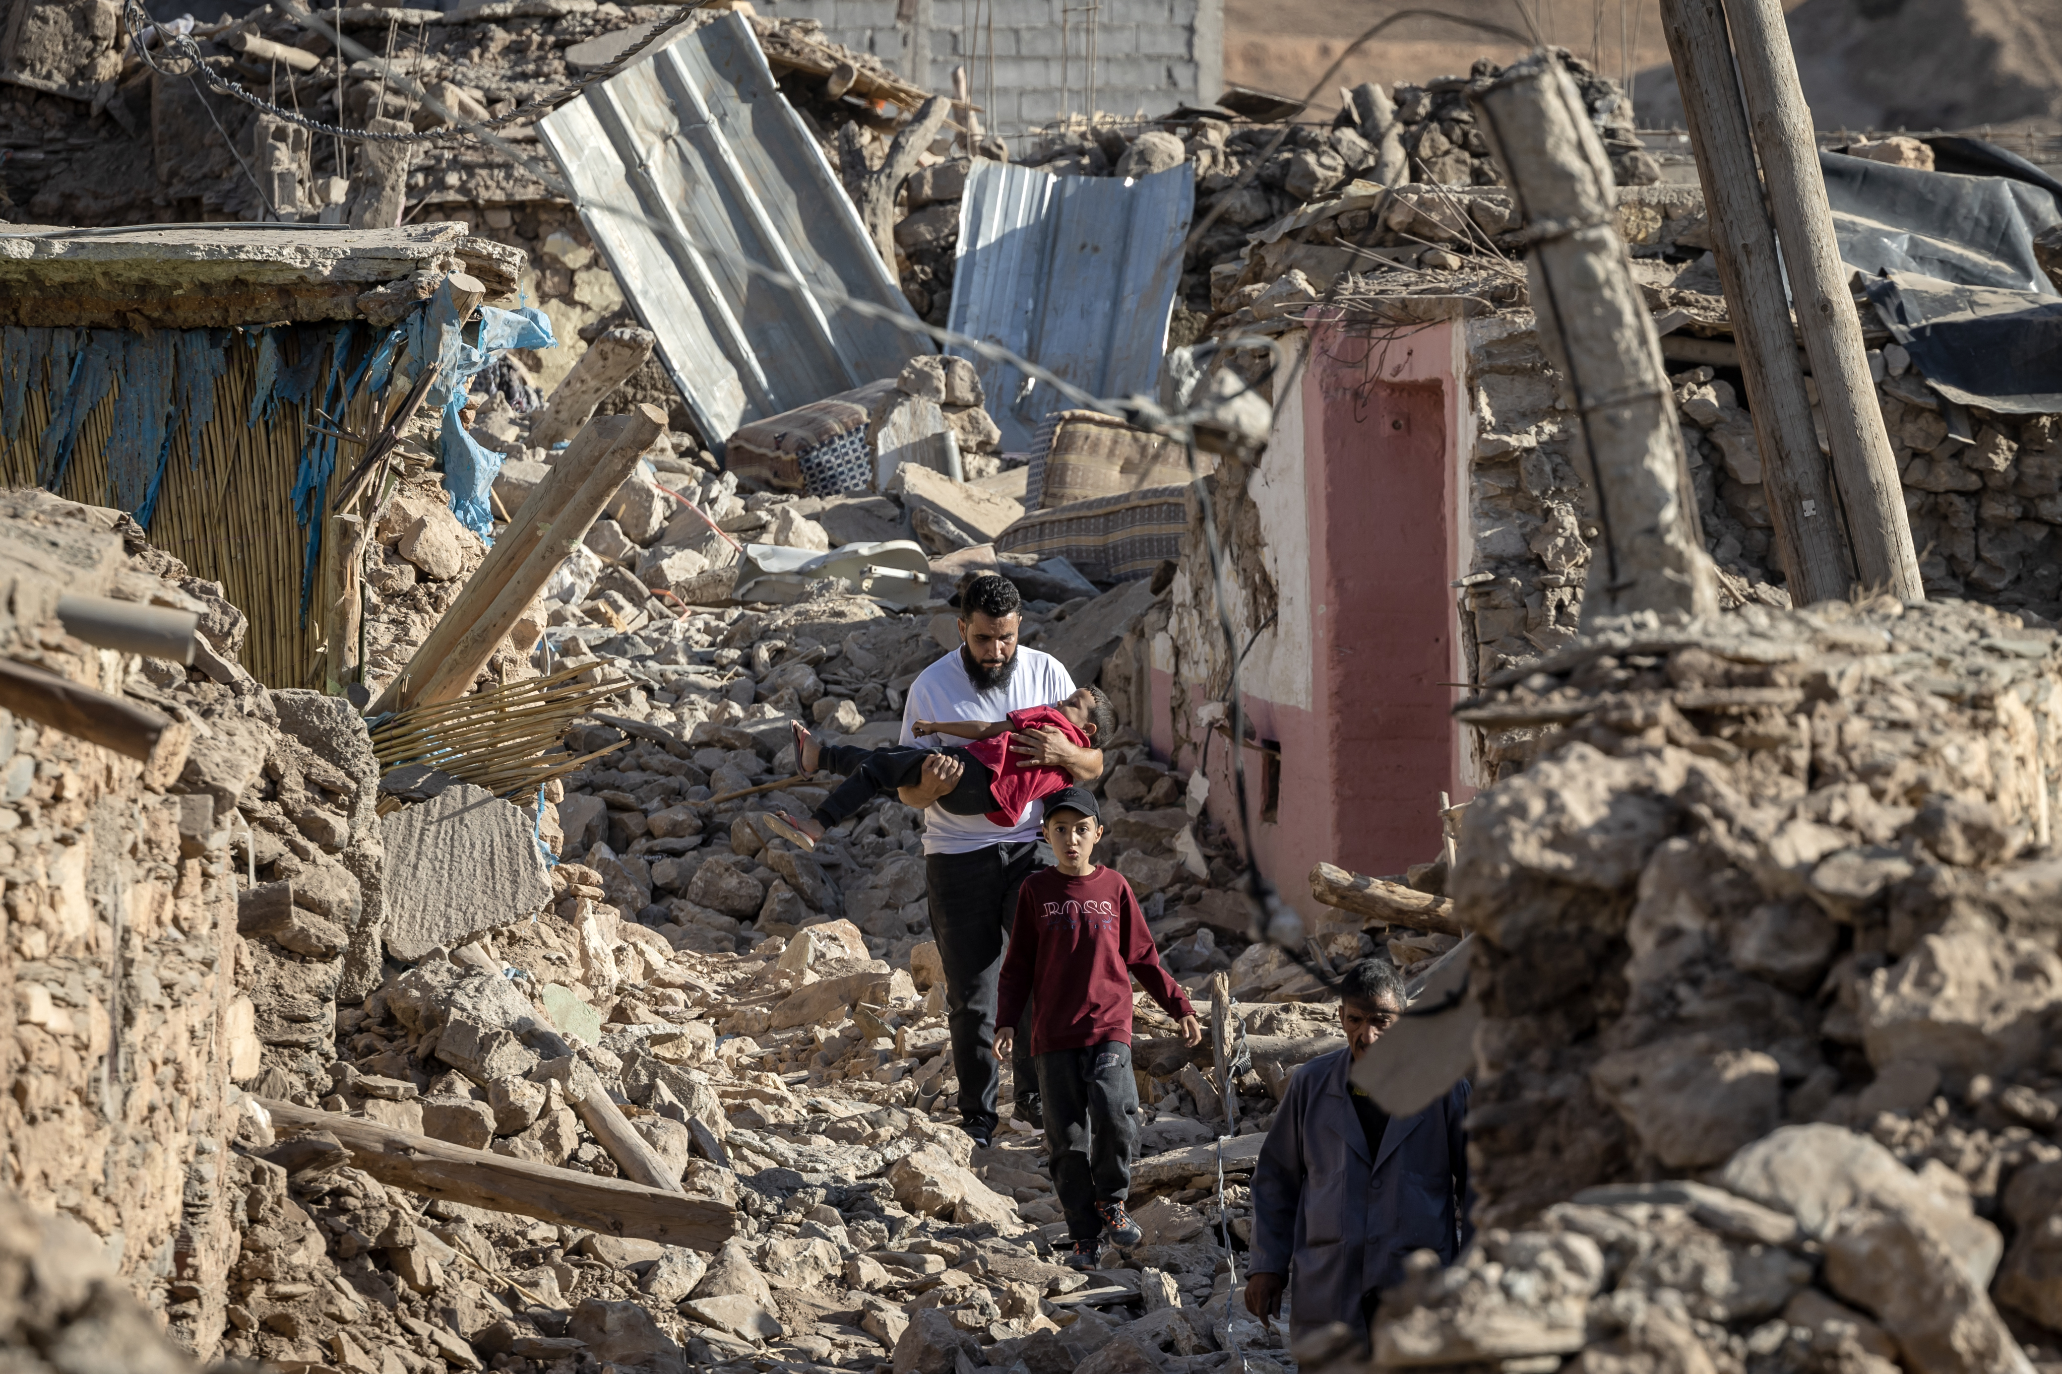
{"label": "large heap of stone rubble filling the lower right foreground", "polygon": [[1507,770],[1448,884],[1483,1230],[1382,1364],[2054,1358],[2058,680],[2052,630],[1878,597],[1612,626],[1462,707]]}

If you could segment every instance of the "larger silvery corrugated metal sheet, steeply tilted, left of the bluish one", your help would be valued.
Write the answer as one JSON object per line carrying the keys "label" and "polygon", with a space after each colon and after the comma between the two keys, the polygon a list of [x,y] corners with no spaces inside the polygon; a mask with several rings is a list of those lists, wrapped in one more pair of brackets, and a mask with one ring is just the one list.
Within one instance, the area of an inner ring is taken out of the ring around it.
{"label": "larger silvery corrugated metal sheet, steeply tilted, left of the bluish one", "polygon": [[[588,237],[658,336],[660,360],[711,445],[930,352],[922,334],[825,297],[909,313],[742,14],[691,29],[546,115],[538,132],[590,202]],[[637,206],[687,243],[608,204]],[[736,257],[806,288],[773,286]]]}

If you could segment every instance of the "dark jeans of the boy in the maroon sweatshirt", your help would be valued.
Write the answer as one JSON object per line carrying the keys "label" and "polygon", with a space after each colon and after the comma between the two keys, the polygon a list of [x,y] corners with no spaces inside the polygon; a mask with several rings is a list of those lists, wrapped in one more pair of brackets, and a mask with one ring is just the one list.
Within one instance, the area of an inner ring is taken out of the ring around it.
{"label": "dark jeans of the boy in the maroon sweatshirt", "polygon": [[1045,1149],[1052,1189],[1074,1240],[1103,1234],[1095,1203],[1122,1201],[1132,1191],[1138,1149],[1138,1079],[1132,1046],[1103,1040],[1093,1049],[1037,1057],[1045,1106]]}

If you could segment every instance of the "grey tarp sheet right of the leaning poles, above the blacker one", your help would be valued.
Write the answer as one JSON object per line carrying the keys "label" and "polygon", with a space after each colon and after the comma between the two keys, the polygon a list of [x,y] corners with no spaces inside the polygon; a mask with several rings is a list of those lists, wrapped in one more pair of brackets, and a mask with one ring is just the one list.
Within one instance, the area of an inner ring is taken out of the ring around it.
{"label": "grey tarp sheet right of the leaning poles, above the blacker one", "polygon": [[[2058,293],[2033,257],[2033,235],[2062,225],[2054,181],[2031,163],[2019,167],[2023,159],[2004,148],[1977,138],[1953,142],[1951,165],[1994,167],[1998,175],[1819,152],[1841,262],[1868,276],[1918,274],[2054,299]],[[1942,152],[1936,148],[1934,157]]]}

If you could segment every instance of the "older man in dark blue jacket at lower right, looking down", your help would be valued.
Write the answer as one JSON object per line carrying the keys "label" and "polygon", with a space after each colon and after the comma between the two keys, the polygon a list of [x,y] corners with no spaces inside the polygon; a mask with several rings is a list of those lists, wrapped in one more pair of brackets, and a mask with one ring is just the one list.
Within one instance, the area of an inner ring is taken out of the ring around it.
{"label": "older man in dark blue jacket at lower right, looking down", "polygon": [[1382,1290],[1402,1281],[1406,1255],[1435,1250],[1454,1263],[1472,1234],[1466,1079],[1398,1119],[1349,1081],[1402,1011],[1392,964],[1371,958],[1346,970],[1346,1049],[1295,1071],[1260,1149],[1245,1308],[1278,1316],[1293,1277],[1291,1337],[1334,1320],[1365,1335]]}

